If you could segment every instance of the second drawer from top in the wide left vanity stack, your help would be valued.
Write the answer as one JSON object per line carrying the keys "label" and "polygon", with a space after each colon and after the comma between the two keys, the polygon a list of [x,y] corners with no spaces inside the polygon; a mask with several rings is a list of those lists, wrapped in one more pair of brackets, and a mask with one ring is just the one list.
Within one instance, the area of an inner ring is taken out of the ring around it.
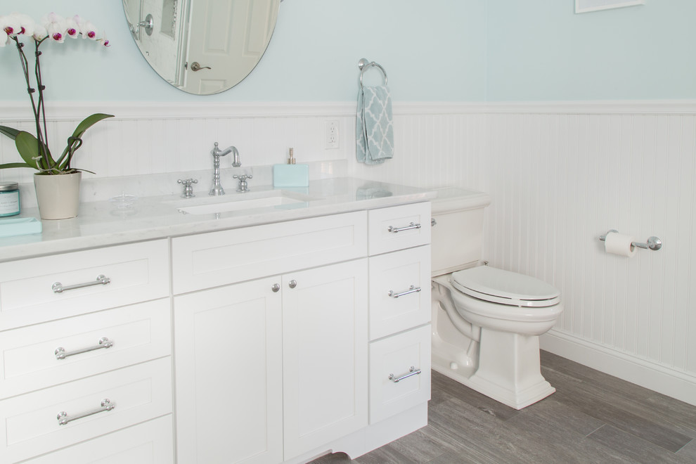
{"label": "second drawer from top in the wide left vanity stack", "polygon": [[[91,347],[100,348],[80,352]],[[169,299],[8,330],[0,335],[0,399],[170,353]]]}

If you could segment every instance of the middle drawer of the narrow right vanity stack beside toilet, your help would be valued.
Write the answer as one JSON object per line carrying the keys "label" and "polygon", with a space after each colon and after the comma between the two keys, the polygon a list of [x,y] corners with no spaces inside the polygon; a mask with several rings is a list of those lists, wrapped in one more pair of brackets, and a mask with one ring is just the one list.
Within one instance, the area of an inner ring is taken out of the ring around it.
{"label": "middle drawer of the narrow right vanity stack beside toilet", "polygon": [[430,305],[430,245],[370,257],[370,340],[428,323]]}

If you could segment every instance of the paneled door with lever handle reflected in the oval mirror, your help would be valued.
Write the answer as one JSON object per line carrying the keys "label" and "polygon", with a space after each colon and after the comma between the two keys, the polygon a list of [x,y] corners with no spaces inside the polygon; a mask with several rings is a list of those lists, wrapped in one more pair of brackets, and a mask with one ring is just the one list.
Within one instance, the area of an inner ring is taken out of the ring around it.
{"label": "paneled door with lever handle reflected in the oval mirror", "polygon": [[240,82],[259,62],[276,25],[278,1],[191,3],[195,9],[191,9],[183,89],[192,94],[216,94]]}

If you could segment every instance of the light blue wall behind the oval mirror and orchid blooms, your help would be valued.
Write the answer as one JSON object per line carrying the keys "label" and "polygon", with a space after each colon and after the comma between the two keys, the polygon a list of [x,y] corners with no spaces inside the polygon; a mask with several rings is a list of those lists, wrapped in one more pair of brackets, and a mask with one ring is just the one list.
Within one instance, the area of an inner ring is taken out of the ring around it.
{"label": "light blue wall behind the oval mirror and orchid blooms", "polygon": [[[78,13],[103,28],[110,49],[43,44],[49,98],[60,101],[352,101],[362,57],[385,67],[395,101],[485,99],[486,0],[285,0],[262,62],[216,96],[166,84],[142,58],[121,1],[0,0],[0,14]],[[74,42],[74,41],[73,41]],[[91,45],[91,46],[89,46]],[[21,101],[13,46],[0,49],[0,101]]]}

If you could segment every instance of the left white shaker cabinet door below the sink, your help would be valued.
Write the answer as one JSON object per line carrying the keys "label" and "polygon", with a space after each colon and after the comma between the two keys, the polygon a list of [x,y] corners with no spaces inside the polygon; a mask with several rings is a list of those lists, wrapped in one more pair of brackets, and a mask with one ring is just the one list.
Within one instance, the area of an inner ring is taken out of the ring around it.
{"label": "left white shaker cabinet door below the sink", "polygon": [[179,463],[283,460],[279,278],[174,298]]}

